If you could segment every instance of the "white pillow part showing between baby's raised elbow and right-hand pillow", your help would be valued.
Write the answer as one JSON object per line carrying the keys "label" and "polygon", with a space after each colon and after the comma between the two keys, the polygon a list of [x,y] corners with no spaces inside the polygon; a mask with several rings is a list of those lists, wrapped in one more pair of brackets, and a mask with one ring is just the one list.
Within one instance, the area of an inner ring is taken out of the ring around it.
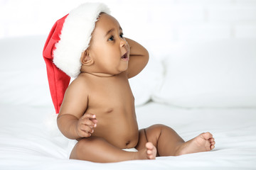
{"label": "white pillow part showing between baby's raised elbow and right-hand pillow", "polygon": [[129,79],[135,98],[135,106],[141,106],[151,99],[163,79],[164,67],[159,60],[149,56],[146,67],[136,77]]}

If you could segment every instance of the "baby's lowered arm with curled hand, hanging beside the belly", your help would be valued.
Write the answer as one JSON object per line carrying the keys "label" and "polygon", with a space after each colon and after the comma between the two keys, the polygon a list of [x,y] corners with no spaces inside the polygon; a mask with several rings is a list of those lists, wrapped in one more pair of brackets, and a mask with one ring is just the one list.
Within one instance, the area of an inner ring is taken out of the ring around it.
{"label": "baby's lowered arm with curled hand, hanging beside the belly", "polygon": [[75,79],[65,92],[57,118],[58,128],[65,137],[73,140],[90,137],[93,128],[97,125],[97,120],[95,115],[85,113],[86,108],[85,84],[82,84],[79,79]]}

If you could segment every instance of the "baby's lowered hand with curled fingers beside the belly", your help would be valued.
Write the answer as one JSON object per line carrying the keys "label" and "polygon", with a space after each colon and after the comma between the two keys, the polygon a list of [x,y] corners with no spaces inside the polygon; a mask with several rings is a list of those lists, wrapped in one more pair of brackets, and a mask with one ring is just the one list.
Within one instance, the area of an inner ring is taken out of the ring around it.
{"label": "baby's lowered hand with curled fingers beside the belly", "polygon": [[94,132],[93,128],[97,126],[96,115],[91,113],[85,113],[78,120],[76,132],[79,137],[90,137]]}

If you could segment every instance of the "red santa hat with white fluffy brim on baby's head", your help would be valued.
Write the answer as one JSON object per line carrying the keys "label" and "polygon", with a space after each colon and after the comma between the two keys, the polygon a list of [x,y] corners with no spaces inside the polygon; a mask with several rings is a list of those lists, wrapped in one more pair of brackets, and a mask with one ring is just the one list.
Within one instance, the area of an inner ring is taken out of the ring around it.
{"label": "red santa hat with white fluffy brim on baby's head", "polygon": [[78,77],[80,57],[89,46],[100,13],[110,13],[105,4],[85,3],[55,22],[43,47],[50,95],[59,113],[70,77]]}

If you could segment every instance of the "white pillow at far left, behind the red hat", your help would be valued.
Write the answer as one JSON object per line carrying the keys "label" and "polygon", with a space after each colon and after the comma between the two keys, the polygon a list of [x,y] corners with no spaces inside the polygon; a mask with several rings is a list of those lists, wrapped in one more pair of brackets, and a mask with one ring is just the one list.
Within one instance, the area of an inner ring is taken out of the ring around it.
{"label": "white pillow at far left, behind the red hat", "polygon": [[42,55],[46,38],[0,40],[0,103],[53,106]]}

